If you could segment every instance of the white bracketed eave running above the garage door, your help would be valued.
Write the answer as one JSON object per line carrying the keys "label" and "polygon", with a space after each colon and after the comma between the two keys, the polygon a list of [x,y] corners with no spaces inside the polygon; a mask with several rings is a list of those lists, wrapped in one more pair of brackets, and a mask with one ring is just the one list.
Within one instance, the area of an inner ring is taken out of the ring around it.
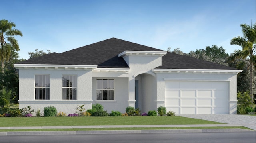
{"label": "white bracketed eave running above the garage door", "polygon": [[197,74],[238,74],[242,70],[219,70],[219,69],[152,69],[154,73],[197,73]]}

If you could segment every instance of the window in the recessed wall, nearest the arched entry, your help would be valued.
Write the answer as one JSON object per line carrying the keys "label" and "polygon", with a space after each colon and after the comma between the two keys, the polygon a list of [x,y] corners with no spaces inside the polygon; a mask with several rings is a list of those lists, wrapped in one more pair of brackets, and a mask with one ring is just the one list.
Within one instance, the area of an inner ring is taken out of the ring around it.
{"label": "window in the recessed wall, nearest the arched entry", "polygon": [[97,79],[97,100],[114,100],[113,79]]}

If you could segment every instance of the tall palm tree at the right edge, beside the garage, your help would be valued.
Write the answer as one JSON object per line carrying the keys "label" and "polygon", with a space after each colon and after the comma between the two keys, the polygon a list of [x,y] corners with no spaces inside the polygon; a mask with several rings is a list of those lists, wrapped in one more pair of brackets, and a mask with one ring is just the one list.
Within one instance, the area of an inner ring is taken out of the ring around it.
{"label": "tall palm tree at the right edge, beside the garage", "polygon": [[[242,32],[243,32],[243,37],[234,37],[231,39],[230,44],[231,45],[239,45],[242,47],[242,50],[235,50],[234,53],[230,55],[228,58],[228,62],[234,61],[235,59],[246,59],[245,61],[249,61],[250,63],[250,95],[252,98],[253,102],[253,90],[252,90],[252,79],[253,79],[253,74],[252,71],[255,69],[255,49],[256,49],[256,24],[250,26],[248,24],[241,24],[240,25]],[[247,58],[249,57],[249,58]],[[243,61],[243,62],[245,62]]]}

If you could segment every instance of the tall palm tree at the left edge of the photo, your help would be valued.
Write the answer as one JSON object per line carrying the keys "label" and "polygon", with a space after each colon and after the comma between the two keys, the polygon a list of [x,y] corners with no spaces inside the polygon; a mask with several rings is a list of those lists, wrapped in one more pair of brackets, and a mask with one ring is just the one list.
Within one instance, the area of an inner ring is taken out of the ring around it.
{"label": "tall palm tree at the left edge of the photo", "polygon": [[[4,72],[4,62],[10,57],[10,54],[8,54],[10,51],[10,46],[13,47],[16,51],[20,50],[18,41],[14,36],[22,36],[22,33],[20,30],[13,27],[16,27],[13,22],[4,19],[0,20],[0,60],[2,65],[2,72]],[[6,43],[7,41],[10,44]]]}

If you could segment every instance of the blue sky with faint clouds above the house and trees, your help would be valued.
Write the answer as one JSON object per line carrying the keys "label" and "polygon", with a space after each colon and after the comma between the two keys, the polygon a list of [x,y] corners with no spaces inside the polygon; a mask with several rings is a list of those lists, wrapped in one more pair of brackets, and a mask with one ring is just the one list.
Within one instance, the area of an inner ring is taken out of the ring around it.
{"label": "blue sky with faint clouds above the house and trees", "polygon": [[5,0],[2,19],[23,37],[20,59],[35,49],[61,53],[112,37],[188,53],[222,46],[242,36],[240,24],[256,22],[255,0]]}

